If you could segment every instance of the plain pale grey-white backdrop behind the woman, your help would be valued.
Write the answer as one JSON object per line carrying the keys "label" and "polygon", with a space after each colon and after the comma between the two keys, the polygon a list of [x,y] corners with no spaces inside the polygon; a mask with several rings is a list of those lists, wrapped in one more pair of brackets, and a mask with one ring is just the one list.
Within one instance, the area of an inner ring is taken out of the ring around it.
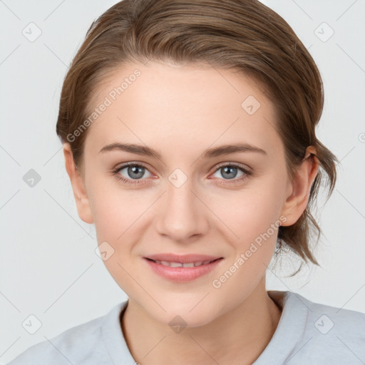
{"label": "plain pale grey-white backdrop behind the woman", "polygon": [[[2,363],[127,298],[95,253],[94,227],[78,217],[56,136],[68,65],[91,22],[116,2],[0,1]],[[268,270],[267,289],[365,312],[365,2],[263,2],[319,66],[325,105],[317,135],[341,161],[336,189],[326,205],[322,190],[316,214],[322,267],[289,278],[297,262],[284,258],[282,269]],[[24,35],[30,23],[33,36],[41,31],[33,41]],[[31,187],[26,174],[40,180]],[[22,326],[30,315],[41,322],[35,334]]]}

